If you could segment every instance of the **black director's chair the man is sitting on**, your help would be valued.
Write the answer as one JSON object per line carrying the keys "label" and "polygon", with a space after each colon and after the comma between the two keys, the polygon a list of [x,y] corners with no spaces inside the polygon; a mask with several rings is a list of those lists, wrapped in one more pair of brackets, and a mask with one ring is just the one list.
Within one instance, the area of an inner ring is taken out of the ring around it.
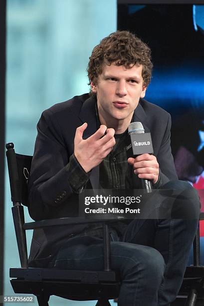
{"label": "black director's chair the man is sitting on", "polygon": [[[14,292],[36,295],[40,306],[48,305],[50,295],[73,300],[98,300],[97,306],[110,305],[109,299],[119,295],[120,278],[116,271],[111,270],[108,220],[66,217],[25,223],[23,205],[27,205],[27,180],[32,156],[15,153],[13,143],[7,143],[6,149],[13,202],[12,215],[21,264],[21,267],[11,267],[9,270]],[[25,230],[91,222],[103,223],[104,270],[68,270],[28,266]]]}

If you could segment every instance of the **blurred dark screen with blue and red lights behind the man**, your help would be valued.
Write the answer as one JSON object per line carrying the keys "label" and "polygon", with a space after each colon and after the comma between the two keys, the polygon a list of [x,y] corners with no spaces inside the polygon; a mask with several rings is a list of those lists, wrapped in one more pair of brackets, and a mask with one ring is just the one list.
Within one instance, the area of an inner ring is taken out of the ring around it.
{"label": "blurred dark screen with blue and red lights behind the man", "polygon": [[[204,5],[122,2],[118,29],[134,32],[152,49],[153,77],[145,98],[171,113],[177,174],[198,189],[204,211]],[[204,236],[204,221],[200,225]]]}

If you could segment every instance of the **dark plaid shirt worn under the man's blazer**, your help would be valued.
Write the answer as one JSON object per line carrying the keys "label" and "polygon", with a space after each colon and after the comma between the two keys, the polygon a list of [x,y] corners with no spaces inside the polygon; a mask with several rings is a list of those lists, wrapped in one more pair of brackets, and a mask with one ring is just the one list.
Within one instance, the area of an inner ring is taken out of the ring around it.
{"label": "dark plaid shirt worn under the man's blazer", "polygon": [[[101,125],[98,108],[96,103],[96,119],[97,128]],[[99,165],[99,182],[102,189],[126,189],[126,188],[140,188],[136,185],[135,174],[133,172],[132,165],[127,161],[128,157],[128,146],[130,144],[130,139],[128,136],[128,130],[122,134],[115,134],[116,144],[113,150],[104,158],[104,160]],[[80,190],[86,186],[89,180],[89,173],[86,173],[80,163],[77,161],[74,154],[71,155],[69,163],[67,165],[67,170],[71,172],[69,176],[69,183],[74,192],[78,193]],[[159,188],[161,185],[161,176],[154,188]],[[113,221],[112,228],[116,229],[119,234],[121,234],[126,227],[125,221]],[[103,237],[102,226],[95,223],[88,225],[87,229],[77,235],[92,235],[97,237]]]}

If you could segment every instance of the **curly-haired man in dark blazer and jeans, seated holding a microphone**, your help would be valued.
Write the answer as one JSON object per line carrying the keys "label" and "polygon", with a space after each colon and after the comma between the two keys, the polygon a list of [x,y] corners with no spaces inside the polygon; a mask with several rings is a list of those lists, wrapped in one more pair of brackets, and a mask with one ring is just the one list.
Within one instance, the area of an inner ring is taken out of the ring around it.
{"label": "curly-haired man in dark blazer and jeans, seated holding a microphone", "polygon": [[[169,305],[180,288],[199,214],[191,185],[178,181],[170,147],[170,115],[143,99],[151,79],[149,47],[117,31],[93,49],[88,64],[90,96],[83,94],[45,110],[29,179],[33,219],[78,216],[83,188],[186,190],[195,219],[134,219],[111,224],[112,268],[120,270],[120,305]],[[142,122],[151,131],[154,155],[133,158],[127,128]],[[99,173],[99,174],[98,174]],[[193,199],[193,201],[192,201]],[[35,230],[31,266],[103,268],[102,230],[97,224]]]}

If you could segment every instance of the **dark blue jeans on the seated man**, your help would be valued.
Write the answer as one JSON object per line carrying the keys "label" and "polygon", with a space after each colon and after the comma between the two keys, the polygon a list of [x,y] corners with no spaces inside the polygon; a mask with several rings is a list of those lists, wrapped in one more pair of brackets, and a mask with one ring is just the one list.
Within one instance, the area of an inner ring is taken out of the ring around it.
{"label": "dark blue jeans on the seated man", "polygon": [[[167,306],[182,284],[200,212],[197,191],[187,182],[170,181],[163,188],[186,189],[178,210],[192,206],[194,219],[133,219],[123,235],[112,230],[111,267],[119,270],[120,306]],[[63,269],[103,269],[102,240],[93,236],[67,239],[51,263]]]}

